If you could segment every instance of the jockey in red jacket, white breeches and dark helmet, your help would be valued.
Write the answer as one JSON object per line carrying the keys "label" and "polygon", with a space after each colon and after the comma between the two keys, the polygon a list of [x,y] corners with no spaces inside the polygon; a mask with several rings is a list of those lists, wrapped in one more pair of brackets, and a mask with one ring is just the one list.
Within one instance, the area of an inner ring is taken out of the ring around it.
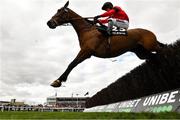
{"label": "jockey in red jacket, white breeches and dark helmet", "polygon": [[102,6],[102,10],[105,10],[106,12],[101,15],[95,16],[94,21],[97,21],[100,17],[108,17],[107,19],[98,20],[98,22],[102,24],[108,23],[108,34],[111,33],[113,26],[124,28],[125,30],[128,29],[129,18],[119,6],[113,7],[113,4],[111,2],[106,2]]}

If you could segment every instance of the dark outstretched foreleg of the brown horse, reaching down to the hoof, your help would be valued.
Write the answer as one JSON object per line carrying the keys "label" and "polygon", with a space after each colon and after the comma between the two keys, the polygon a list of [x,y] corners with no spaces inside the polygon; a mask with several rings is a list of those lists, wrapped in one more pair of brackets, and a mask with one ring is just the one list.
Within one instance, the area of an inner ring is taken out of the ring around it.
{"label": "dark outstretched foreleg of the brown horse, reaching down to the hoof", "polygon": [[77,57],[68,65],[67,69],[65,70],[65,72],[57,79],[55,80],[51,86],[53,87],[60,87],[61,86],[61,82],[65,82],[67,80],[67,77],[69,75],[69,73],[72,71],[72,69],[74,67],[76,67],[79,63],[83,62],[85,59],[90,58],[92,55],[91,51],[87,51],[87,50],[81,50]]}

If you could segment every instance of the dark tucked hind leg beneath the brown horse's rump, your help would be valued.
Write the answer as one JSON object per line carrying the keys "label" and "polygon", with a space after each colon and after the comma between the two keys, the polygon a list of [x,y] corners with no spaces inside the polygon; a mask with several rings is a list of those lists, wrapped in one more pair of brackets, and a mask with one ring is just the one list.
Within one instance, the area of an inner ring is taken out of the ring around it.
{"label": "dark tucked hind leg beneath the brown horse's rump", "polygon": [[152,59],[156,56],[156,54],[151,53],[147,49],[145,49],[142,45],[138,45],[136,48],[131,50],[134,52],[140,59]]}

